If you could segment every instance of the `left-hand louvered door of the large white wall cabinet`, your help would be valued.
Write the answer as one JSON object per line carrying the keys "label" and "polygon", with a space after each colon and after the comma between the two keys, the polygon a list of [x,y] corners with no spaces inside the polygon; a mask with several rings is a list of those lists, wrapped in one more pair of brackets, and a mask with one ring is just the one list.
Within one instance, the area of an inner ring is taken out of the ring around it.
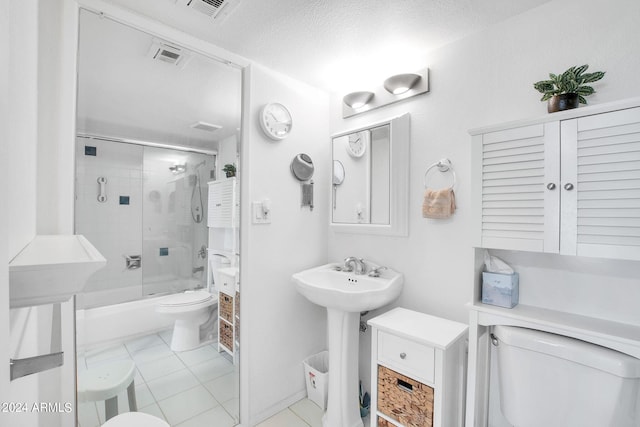
{"label": "left-hand louvered door of the large white wall cabinet", "polygon": [[[560,125],[489,132],[474,141],[479,246],[559,251]],[[477,165],[480,165],[479,167]]]}

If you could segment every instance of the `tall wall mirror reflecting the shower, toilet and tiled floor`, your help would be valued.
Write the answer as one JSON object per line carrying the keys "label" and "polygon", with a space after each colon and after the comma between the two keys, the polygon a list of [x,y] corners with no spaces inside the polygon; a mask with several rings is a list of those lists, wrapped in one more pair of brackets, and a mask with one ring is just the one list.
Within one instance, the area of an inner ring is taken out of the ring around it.
{"label": "tall wall mirror reflecting the shower, toilet and tiled floor", "polygon": [[[86,384],[123,366],[137,375],[118,380],[119,413],[135,409],[134,384],[137,409],[171,425],[239,424],[240,230],[220,225],[231,197],[208,227],[208,184],[237,191],[223,165],[238,165],[241,71],[160,40],[160,27],[150,34],[86,9],[79,25],[75,232],[109,266],[76,297],[79,425],[114,412]],[[183,328],[187,316],[202,317]],[[194,399],[198,411],[181,406]]]}

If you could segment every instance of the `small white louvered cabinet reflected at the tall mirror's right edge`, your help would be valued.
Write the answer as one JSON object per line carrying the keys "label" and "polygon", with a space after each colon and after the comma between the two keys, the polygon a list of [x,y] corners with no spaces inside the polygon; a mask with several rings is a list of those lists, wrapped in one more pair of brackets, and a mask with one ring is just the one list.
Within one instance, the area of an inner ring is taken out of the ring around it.
{"label": "small white louvered cabinet reflected at the tall mirror's right edge", "polygon": [[238,226],[239,198],[236,178],[211,181],[207,225],[214,228],[235,228]]}

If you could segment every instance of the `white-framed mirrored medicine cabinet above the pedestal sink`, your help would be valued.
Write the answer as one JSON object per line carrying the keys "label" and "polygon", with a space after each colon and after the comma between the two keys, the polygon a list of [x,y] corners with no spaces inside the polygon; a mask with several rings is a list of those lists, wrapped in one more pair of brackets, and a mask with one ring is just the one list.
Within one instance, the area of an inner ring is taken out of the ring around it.
{"label": "white-framed mirrored medicine cabinet above the pedestal sink", "polygon": [[406,236],[409,114],[334,135],[332,157],[332,228]]}

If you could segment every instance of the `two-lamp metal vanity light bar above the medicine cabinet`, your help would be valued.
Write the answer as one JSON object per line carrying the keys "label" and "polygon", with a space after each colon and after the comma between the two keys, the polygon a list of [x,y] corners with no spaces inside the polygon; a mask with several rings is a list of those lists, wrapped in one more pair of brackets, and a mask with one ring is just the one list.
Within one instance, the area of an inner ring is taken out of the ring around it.
{"label": "two-lamp metal vanity light bar above the medicine cabinet", "polygon": [[429,69],[396,74],[372,91],[352,92],[342,98],[342,118],[429,92]]}

